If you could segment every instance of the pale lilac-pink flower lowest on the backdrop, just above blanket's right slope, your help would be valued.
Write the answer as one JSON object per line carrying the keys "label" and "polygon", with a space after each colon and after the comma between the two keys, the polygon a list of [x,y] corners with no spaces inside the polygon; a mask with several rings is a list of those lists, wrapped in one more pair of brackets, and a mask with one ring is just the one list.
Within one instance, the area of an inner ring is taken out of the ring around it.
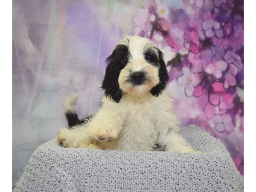
{"label": "pale lilac-pink flower lowest on the backdrop, just above blanket's right slope", "polygon": [[231,132],[235,128],[235,124],[232,122],[230,114],[225,113],[221,115],[215,115],[209,120],[209,125],[219,133],[224,131]]}

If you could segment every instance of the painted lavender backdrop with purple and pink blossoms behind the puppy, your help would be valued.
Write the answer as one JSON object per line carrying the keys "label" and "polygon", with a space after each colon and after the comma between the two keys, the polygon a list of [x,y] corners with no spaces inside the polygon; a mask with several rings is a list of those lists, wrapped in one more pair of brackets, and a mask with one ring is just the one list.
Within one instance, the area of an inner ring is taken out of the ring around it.
{"label": "painted lavender backdrop with purple and pink blossoms behind the puppy", "polygon": [[162,49],[182,126],[220,138],[243,174],[243,17],[242,0],[14,0],[13,184],[67,127],[68,93],[80,117],[99,109],[105,58],[124,35]]}

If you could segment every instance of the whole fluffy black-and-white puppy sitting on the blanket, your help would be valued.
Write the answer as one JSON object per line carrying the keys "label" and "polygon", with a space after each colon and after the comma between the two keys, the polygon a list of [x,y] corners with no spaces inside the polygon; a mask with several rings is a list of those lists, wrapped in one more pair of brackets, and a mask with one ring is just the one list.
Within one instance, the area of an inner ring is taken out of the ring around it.
{"label": "whole fluffy black-and-white puppy sitting on the blanket", "polygon": [[179,134],[168,91],[169,76],[163,53],[147,38],[125,36],[106,59],[102,108],[79,120],[70,94],[64,109],[72,129],[58,131],[64,147],[198,153]]}

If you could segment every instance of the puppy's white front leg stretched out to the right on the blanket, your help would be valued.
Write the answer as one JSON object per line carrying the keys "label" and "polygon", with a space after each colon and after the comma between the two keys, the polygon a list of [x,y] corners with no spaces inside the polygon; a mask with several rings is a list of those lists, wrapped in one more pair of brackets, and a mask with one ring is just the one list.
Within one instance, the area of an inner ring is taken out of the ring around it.
{"label": "puppy's white front leg stretched out to the right on the blanket", "polygon": [[194,150],[185,138],[171,128],[164,128],[160,131],[158,143],[166,147],[166,151],[176,151],[182,153],[200,154],[200,151]]}

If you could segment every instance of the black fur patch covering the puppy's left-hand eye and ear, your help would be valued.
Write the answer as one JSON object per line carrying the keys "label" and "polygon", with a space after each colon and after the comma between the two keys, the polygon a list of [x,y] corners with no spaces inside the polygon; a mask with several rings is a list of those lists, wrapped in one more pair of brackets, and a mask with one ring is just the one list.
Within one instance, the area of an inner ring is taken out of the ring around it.
{"label": "black fur patch covering the puppy's left-hand eye and ear", "polygon": [[112,54],[106,59],[108,66],[102,82],[102,89],[105,90],[105,96],[114,102],[119,102],[122,98],[122,91],[119,88],[118,77],[120,71],[126,64],[122,63],[122,58],[129,58],[129,49],[125,45],[117,45]]}

